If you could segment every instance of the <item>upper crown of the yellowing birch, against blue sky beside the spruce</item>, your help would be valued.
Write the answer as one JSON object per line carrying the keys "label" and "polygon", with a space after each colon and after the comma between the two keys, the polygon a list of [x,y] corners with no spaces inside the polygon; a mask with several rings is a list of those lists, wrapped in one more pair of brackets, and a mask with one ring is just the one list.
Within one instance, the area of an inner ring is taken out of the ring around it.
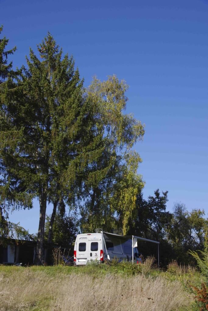
{"label": "upper crown of the yellowing birch, against blue sky beside the spruce", "polygon": [[141,122],[132,115],[123,114],[128,100],[125,96],[127,89],[125,81],[119,81],[114,75],[103,82],[94,77],[87,90],[89,100],[97,108],[99,125],[101,128],[105,126],[107,137],[119,148],[131,148],[144,135]]}

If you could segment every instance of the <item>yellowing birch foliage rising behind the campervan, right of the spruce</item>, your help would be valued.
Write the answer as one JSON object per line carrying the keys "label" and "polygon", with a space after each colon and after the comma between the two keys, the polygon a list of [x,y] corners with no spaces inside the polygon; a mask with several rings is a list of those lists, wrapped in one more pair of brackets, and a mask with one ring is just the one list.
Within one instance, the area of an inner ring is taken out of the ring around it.
{"label": "yellowing birch foliage rising behind the campervan, right of the spruce", "polygon": [[106,164],[112,163],[102,179],[85,183],[85,202],[81,209],[80,227],[83,232],[96,227],[104,230],[122,228],[128,232],[129,220],[134,215],[137,194],[144,186],[137,174],[141,158],[132,151],[134,143],[141,140],[144,127],[132,115],[123,113],[128,86],[109,76],[106,81],[94,77],[86,90],[88,99],[96,107],[96,125],[104,135],[105,150],[91,166],[105,172]]}

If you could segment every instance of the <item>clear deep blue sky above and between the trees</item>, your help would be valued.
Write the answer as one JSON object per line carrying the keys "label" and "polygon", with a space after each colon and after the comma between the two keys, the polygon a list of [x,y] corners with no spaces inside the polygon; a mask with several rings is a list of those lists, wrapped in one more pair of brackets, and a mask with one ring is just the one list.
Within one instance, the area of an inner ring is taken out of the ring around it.
{"label": "clear deep blue sky above and between the trees", "polygon": [[[144,197],[168,190],[208,212],[208,1],[5,1],[3,34],[17,46],[15,66],[50,31],[73,54],[85,86],[117,74],[129,84],[127,113],[145,123],[136,145]],[[50,208],[47,213],[50,213]],[[38,204],[11,220],[38,228]]]}

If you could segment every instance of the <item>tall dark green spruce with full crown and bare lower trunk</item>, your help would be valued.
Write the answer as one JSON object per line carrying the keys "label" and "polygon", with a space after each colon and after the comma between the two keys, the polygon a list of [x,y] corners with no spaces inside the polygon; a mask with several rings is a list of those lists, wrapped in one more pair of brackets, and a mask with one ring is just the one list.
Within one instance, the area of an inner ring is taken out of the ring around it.
{"label": "tall dark green spruce with full crown and bare lower trunk", "polygon": [[38,51],[40,58],[30,49],[27,67],[17,82],[7,79],[1,94],[0,193],[13,208],[32,208],[38,198],[35,263],[42,264],[47,202],[71,202],[84,179],[102,176],[86,177],[85,168],[102,155],[104,142],[73,58],[62,56],[49,33]]}

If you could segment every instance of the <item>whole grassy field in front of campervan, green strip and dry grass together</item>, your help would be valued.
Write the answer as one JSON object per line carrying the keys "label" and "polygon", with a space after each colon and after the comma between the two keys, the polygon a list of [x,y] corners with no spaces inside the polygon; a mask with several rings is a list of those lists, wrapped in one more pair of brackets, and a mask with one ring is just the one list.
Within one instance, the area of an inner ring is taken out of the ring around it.
{"label": "whole grassy field in front of campervan, green strip and dry grass together", "polygon": [[191,310],[188,285],[200,282],[197,272],[131,267],[0,266],[0,310]]}

